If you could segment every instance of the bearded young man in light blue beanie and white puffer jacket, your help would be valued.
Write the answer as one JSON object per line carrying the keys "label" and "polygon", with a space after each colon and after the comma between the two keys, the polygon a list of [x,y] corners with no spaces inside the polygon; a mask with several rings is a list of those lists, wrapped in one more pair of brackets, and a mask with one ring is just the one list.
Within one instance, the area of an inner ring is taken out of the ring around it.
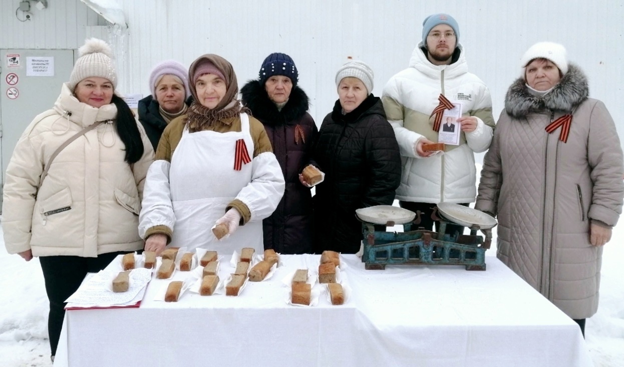
{"label": "bearded young man in light blue beanie and white puffer jacket", "polygon": [[[441,95],[462,105],[459,145],[447,144],[443,152],[423,151],[423,144],[438,141],[434,110],[442,104]],[[422,42],[412,52],[409,67],[384,87],[382,101],[401,149],[396,198],[401,207],[420,211],[419,226],[431,230],[437,203],[467,206],[475,201],[474,153],[487,150],[494,133],[490,92],[468,72],[453,17],[434,14],[424,20]],[[455,231],[463,228],[447,226],[447,232]]]}

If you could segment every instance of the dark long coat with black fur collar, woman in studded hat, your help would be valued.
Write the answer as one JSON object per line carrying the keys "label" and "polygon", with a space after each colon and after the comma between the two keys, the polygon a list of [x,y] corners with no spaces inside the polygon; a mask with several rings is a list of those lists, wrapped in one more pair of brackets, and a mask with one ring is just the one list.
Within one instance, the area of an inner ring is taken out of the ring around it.
{"label": "dark long coat with black fur collar, woman in studded hat", "polygon": [[[303,168],[314,164],[311,153],[318,135],[318,128],[308,113],[308,96],[295,86],[286,105],[278,110],[258,80],[247,82],[241,88],[241,95],[243,105],[265,125],[266,135],[286,181],[280,204],[263,221],[265,249],[274,249],[281,254],[310,254],[312,198],[310,188],[299,181]],[[303,132],[303,136],[297,131]]]}

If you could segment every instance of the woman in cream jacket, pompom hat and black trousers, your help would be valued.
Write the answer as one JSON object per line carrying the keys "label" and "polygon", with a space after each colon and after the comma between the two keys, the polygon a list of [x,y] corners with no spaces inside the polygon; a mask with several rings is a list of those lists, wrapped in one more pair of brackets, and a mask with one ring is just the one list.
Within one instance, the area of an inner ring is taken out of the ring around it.
{"label": "woman in cream jacket, pompom hat and black trousers", "polygon": [[154,156],[132,111],[115,94],[109,45],[89,39],[79,53],[54,107],[35,117],[17,141],[4,184],[4,244],[26,261],[39,257],[50,301],[52,360],[64,302],[87,272],[142,248],[138,214]]}

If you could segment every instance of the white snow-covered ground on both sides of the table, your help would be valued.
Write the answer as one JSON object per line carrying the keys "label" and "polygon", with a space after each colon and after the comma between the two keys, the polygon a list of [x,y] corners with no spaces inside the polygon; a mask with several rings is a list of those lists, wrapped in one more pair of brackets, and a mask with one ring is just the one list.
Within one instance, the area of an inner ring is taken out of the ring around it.
{"label": "white snow-covered ground on both sides of the table", "polygon": [[[0,230],[0,239],[2,232]],[[24,262],[0,245],[0,366],[51,366],[47,298],[39,260]],[[488,250],[495,255],[495,248]],[[624,366],[624,224],[605,245],[598,313],[587,320],[587,347],[596,367]]]}

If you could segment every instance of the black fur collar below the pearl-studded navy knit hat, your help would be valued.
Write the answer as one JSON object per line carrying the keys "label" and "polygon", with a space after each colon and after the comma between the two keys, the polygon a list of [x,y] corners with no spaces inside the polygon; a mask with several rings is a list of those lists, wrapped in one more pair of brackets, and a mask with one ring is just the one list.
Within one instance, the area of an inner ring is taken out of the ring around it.
{"label": "black fur collar below the pearl-studded navy knit hat", "polygon": [[283,125],[289,121],[301,118],[308,112],[310,100],[300,87],[293,87],[286,105],[280,110],[269,99],[264,85],[259,80],[250,80],[240,90],[243,96],[243,105],[251,110],[253,117],[258,118],[266,125]]}

